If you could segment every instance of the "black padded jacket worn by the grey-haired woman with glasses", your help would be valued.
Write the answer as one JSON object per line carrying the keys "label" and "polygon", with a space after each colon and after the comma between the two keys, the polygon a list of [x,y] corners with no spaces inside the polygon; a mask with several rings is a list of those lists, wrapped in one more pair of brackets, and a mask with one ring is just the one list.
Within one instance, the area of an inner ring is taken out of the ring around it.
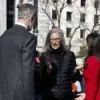
{"label": "black padded jacket worn by the grey-haired woman with glasses", "polygon": [[[59,56],[60,55],[60,56]],[[76,66],[71,51],[51,52],[52,71],[47,72],[47,54],[40,57],[43,100],[73,100],[72,75]]]}

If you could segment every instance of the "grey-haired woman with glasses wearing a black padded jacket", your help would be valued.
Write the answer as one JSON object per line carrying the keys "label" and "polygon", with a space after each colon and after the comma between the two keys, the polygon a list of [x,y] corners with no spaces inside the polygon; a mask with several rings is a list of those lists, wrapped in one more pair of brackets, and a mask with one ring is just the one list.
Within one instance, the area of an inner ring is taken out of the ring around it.
{"label": "grey-haired woman with glasses wearing a black padded jacket", "polygon": [[75,55],[66,49],[61,29],[49,31],[40,57],[42,100],[73,100],[72,75]]}

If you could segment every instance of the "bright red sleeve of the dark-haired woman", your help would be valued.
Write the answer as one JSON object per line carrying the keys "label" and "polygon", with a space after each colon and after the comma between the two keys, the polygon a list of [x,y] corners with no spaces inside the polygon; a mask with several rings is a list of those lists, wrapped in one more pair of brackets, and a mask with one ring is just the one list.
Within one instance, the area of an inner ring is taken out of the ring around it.
{"label": "bright red sleeve of the dark-haired woman", "polygon": [[95,100],[98,91],[99,62],[96,57],[87,60],[86,76],[86,100]]}

